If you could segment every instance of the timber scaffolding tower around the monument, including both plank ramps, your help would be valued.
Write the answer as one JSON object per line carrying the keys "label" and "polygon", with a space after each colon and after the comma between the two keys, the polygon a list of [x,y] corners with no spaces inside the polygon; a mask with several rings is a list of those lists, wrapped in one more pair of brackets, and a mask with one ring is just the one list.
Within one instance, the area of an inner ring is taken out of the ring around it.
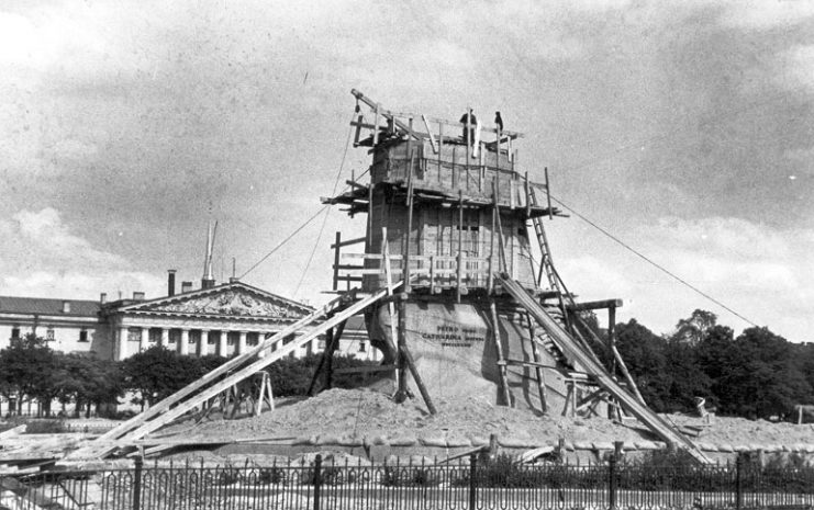
{"label": "timber scaffolding tower around the monument, including both plank ramps", "polygon": [[[532,182],[527,172],[518,171],[514,143],[523,135],[497,126],[487,128],[470,115],[460,123],[397,113],[357,90],[352,93],[357,103],[352,123],[356,127],[354,145],[370,147],[373,163],[367,182],[352,178],[348,192],[322,200],[346,205],[352,216],[367,214],[364,238],[342,239],[337,233],[332,246],[333,292],[338,296],[71,456],[127,453],[147,434],[203,408],[320,335],[326,335],[325,350],[310,393],[330,387],[334,373],[331,360],[345,321],[359,314],[366,315],[369,330],[378,320],[389,339],[377,345],[384,360],[373,371],[394,377],[395,400],[411,396],[408,382],[412,376],[428,411],[435,413],[408,341],[406,316],[409,303],[443,301],[477,302],[488,310],[488,341],[497,351],[494,364],[504,405],[515,400],[508,369],[522,366],[534,374],[539,410],[550,412],[545,372],[556,370],[568,385],[564,413],[595,412],[595,405],[604,401],[609,416],[628,412],[669,445],[709,462],[674,426],[646,406],[613,343],[613,331],[604,341],[582,320],[584,310],[607,309],[613,325],[622,303],[576,303],[557,273],[543,218],[562,214],[551,206],[547,169],[545,183]],[[367,115],[363,105],[369,110]],[[536,265],[532,238],[539,250]],[[359,245],[364,245],[363,252],[342,251]],[[503,352],[499,315],[506,313],[527,331],[531,360]],[[379,320],[382,317],[387,320]],[[290,340],[298,330],[304,333]],[[544,363],[543,354],[556,360],[556,366]],[[624,383],[617,381],[617,372]]]}

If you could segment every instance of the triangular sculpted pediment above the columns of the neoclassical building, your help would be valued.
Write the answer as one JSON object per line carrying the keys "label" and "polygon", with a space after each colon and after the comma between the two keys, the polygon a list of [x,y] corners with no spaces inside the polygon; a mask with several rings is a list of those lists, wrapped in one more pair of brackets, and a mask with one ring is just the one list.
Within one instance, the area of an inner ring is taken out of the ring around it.
{"label": "triangular sculpted pediment above the columns of the neoclassical building", "polygon": [[119,311],[160,315],[194,315],[299,319],[311,308],[243,283],[179,294],[150,302],[133,304]]}

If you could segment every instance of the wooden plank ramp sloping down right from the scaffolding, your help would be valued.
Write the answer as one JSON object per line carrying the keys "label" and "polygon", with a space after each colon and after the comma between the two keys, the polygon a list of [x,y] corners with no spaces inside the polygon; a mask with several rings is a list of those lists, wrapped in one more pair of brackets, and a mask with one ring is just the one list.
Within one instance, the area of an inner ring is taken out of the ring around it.
{"label": "wooden plank ramp sloping down right from the scaffolding", "polygon": [[508,274],[498,274],[495,277],[503,288],[520,303],[534,319],[546,330],[557,345],[570,359],[579,363],[582,369],[596,378],[596,383],[613,395],[622,406],[646,424],[655,434],[669,444],[687,450],[695,460],[709,464],[710,458],[695,444],[682,434],[678,428],[653,412],[647,406],[639,403],[625,388],[620,386],[605,369],[594,361],[594,356],[584,352],[584,349],[548,315],[548,313],[532,297],[525,288],[512,280]]}

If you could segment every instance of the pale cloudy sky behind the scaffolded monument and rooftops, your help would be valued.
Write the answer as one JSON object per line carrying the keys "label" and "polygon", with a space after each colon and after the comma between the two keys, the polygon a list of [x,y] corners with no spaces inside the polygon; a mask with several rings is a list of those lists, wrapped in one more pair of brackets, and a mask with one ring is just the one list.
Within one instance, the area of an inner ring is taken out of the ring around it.
{"label": "pale cloudy sky behind the scaffolded monument and rooftops", "polygon": [[622,298],[657,333],[701,308],[814,341],[803,0],[3,0],[0,295],[158,297],[168,269],[198,285],[218,220],[219,281],[234,260],[327,301],[334,233],[365,228],[320,214],[369,166],[352,88],[525,133],[521,169],[548,167],[570,209],[546,227],[580,299]]}

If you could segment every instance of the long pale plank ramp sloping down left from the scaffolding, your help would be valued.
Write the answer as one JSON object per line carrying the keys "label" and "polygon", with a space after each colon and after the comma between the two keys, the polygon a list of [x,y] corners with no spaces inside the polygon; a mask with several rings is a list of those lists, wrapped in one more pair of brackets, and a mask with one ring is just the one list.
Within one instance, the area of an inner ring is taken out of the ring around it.
{"label": "long pale plank ramp sloping down left from the scaffolding", "polygon": [[[275,336],[267,337],[263,342],[260,342],[260,344],[245,354],[241,354],[230,360],[194,383],[179,389],[175,394],[145,410],[141,415],[131,418],[115,429],[100,435],[88,446],[68,455],[67,460],[100,458],[122,446],[132,445],[134,441],[143,439],[148,433],[170,423],[221,392],[230,388],[232,385],[253,376],[258,371],[281,358],[289,355],[294,352],[296,349],[304,345],[328,329],[334,328],[338,324],[347,320],[349,317],[357,315],[371,304],[401,286],[401,283],[402,282],[394,283],[360,301],[354,298],[355,292],[341,295],[327,305],[298,320]],[[325,317],[328,318],[317,324],[317,321]],[[279,344],[287,339],[287,337],[290,337],[302,328],[309,328],[304,335],[291,340],[289,343],[278,345],[277,350],[274,352],[266,352],[268,349]],[[264,352],[265,355],[261,354]]]}

